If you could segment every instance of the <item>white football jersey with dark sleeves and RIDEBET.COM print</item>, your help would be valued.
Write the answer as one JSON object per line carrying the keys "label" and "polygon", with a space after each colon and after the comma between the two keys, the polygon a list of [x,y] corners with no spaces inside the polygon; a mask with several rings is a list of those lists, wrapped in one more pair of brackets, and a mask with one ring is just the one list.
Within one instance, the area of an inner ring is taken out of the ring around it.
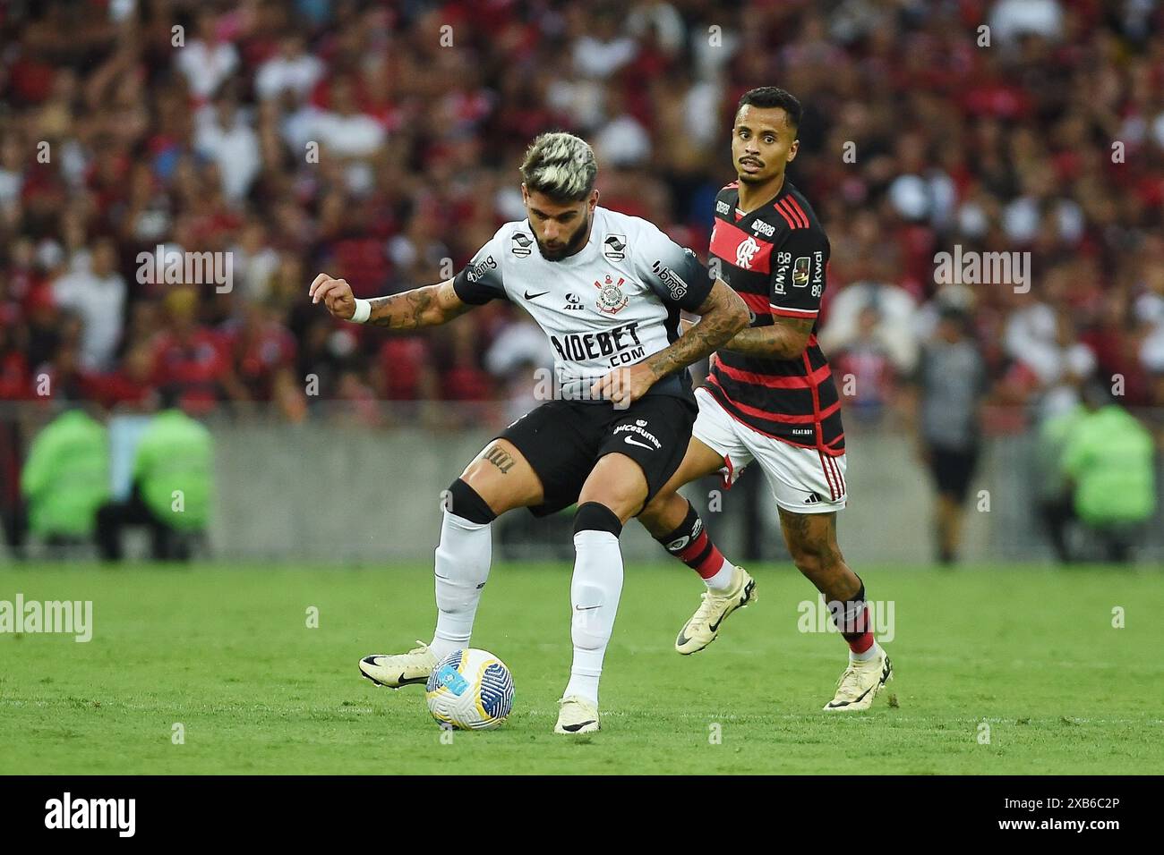
{"label": "white football jersey with dark sleeves and RIDEBET.COM print", "polygon": [[[453,279],[464,302],[524,307],[549,339],[562,397],[576,399],[611,369],[675,341],[680,309],[698,309],[712,283],[695,254],[653,223],[603,207],[572,256],[546,261],[528,221],[508,222]],[[689,396],[690,377],[684,369],[651,392]]]}

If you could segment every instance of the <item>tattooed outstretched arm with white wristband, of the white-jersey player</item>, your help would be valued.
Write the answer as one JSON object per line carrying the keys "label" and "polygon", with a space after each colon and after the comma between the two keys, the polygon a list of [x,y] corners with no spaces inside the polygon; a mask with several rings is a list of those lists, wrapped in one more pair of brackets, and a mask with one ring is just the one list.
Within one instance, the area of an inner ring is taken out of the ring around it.
{"label": "tattooed outstretched arm with white wristband, of the white-jersey player", "polygon": [[308,293],[312,302],[322,302],[335,318],[388,329],[435,327],[473,308],[456,295],[452,279],[391,297],[359,300],[347,282],[320,273]]}

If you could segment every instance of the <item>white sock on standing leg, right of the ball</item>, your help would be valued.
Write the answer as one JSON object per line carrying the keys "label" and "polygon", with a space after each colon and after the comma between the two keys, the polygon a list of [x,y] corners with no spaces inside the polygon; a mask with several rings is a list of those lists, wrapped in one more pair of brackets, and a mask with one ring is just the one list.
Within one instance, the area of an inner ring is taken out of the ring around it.
{"label": "white sock on standing leg, right of the ball", "polygon": [[570,582],[570,637],[574,664],[562,697],[579,694],[597,706],[598,677],[615,628],[623,593],[623,551],[610,532],[574,535],[574,579]]}

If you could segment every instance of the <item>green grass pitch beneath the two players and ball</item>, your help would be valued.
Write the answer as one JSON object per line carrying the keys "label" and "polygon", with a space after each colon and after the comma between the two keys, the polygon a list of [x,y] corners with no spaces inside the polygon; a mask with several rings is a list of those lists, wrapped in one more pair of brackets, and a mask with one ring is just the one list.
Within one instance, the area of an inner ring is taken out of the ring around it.
{"label": "green grass pitch beneath the two players and ball", "polygon": [[896,678],[847,715],[821,712],[844,642],[797,629],[816,592],[787,565],[752,570],[759,601],[683,657],[698,580],[629,567],[603,729],[567,738],[551,731],[569,568],[495,567],[474,644],[512,669],[513,714],[447,743],[419,687],[356,672],[430,637],[426,567],[5,568],[0,600],[92,600],[93,639],[0,634],[0,772],[1164,772],[1158,570],[863,567],[894,603]]}

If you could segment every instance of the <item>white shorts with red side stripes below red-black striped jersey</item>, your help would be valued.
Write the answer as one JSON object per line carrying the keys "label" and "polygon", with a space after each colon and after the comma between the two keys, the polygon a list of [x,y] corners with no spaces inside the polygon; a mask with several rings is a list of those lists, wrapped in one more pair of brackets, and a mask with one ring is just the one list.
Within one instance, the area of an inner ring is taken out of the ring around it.
{"label": "white shorts with red side stripes below red-black striped jersey", "polygon": [[705,389],[695,390],[700,415],[691,436],[724,458],[724,489],[758,461],[776,505],[800,514],[823,514],[845,507],[845,455],[830,457],[765,436],[732,418]]}

